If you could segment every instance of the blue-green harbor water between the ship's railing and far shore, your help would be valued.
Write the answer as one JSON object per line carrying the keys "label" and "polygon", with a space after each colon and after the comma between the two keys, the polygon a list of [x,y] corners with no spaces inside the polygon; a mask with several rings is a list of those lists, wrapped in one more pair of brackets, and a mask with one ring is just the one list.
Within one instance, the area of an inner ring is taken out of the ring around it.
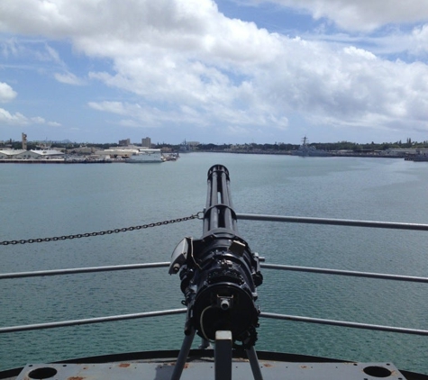
{"label": "blue-green harbor water between the ship's railing and far shore", "polygon": [[[114,230],[203,210],[223,164],[236,213],[428,223],[428,166],[388,158],[189,153],[161,164],[0,165],[0,240]],[[428,232],[239,221],[267,263],[428,276]],[[168,261],[199,220],[92,238],[0,246],[2,273]],[[428,329],[426,284],[263,270],[262,312]],[[0,281],[0,327],[183,308],[168,268]],[[114,352],[178,349],[185,315],[0,335],[0,370]],[[256,349],[428,374],[427,337],[260,319]],[[199,344],[195,339],[195,348]]]}

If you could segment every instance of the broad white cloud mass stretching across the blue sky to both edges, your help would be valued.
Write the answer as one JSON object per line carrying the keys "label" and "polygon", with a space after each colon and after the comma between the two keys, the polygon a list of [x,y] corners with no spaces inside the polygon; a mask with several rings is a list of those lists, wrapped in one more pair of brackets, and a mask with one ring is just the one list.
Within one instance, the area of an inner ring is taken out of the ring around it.
{"label": "broad white cloud mass stretching across the blue sky to both edges", "polygon": [[[428,3],[420,0],[277,3],[305,8],[314,18],[351,31],[428,19]],[[349,36],[337,44],[269,33],[255,23],[228,19],[209,0],[2,0],[1,30],[65,38],[74,52],[111,63],[94,66],[87,77],[119,90],[118,100],[99,101],[99,95],[88,106],[122,117],[119,123],[126,126],[284,131],[298,113],[313,125],[427,128],[427,65],[382,59],[351,39],[343,46]],[[399,32],[400,51],[426,51],[427,31],[421,25],[409,34]],[[393,39],[383,41],[386,50],[393,46]],[[57,50],[45,53],[62,64]],[[83,83],[65,68],[54,77]],[[123,91],[137,100],[123,102]]]}

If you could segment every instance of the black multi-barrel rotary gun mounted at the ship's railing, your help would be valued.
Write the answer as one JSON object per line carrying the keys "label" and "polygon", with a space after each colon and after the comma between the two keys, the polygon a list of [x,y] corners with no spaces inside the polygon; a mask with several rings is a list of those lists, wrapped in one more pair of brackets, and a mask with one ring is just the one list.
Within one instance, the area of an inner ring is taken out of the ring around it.
{"label": "black multi-barrel rotary gun mounted at the ship's railing", "polygon": [[198,240],[183,239],[169,267],[169,274],[180,276],[187,306],[183,357],[178,357],[176,369],[184,366],[196,332],[208,342],[214,341],[217,331],[230,331],[233,344],[241,342],[257,361],[256,287],[263,281],[259,257],[238,234],[227,168],[211,167],[207,185],[203,235]]}

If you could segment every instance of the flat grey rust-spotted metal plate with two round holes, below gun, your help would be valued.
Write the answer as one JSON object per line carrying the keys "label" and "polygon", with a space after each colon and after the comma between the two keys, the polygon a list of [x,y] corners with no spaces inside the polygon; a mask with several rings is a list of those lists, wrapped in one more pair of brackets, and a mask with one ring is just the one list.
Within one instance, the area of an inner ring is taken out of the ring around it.
{"label": "flat grey rust-spotted metal plate with two round holes, below gun", "polygon": [[[168,380],[174,361],[158,363],[115,362],[105,364],[32,364],[23,368],[16,380]],[[385,378],[405,380],[396,366],[389,363],[290,363],[260,361],[264,380],[373,380]],[[212,374],[212,375],[211,375]],[[214,378],[212,361],[188,362],[181,376],[183,380]],[[250,363],[233,362],[232,378],[248,380],[253,378]]]}

